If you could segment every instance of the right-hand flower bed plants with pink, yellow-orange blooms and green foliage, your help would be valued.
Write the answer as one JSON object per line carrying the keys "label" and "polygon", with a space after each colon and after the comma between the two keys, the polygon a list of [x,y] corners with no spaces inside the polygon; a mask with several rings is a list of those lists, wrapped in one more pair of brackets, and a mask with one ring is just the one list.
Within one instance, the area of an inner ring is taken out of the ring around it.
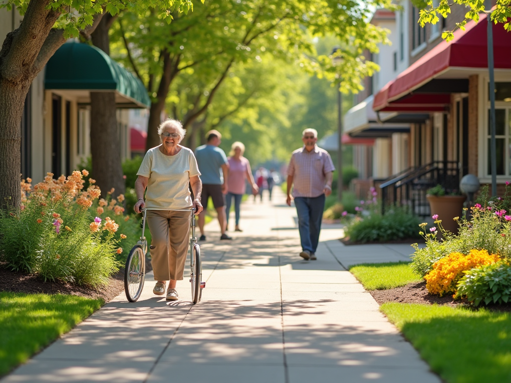
{"label": "right-hand flower bed plants with pink, yellow-orange blooms and green foliage", "polygon": [[[507,303],[511,298],[511,216],[507,202],[508,183],[504,198],[483,198],[463,217],[456,217],[459,233],[454,235],[442,227],[437,214],[436,226],[419,225],[426,247],[413,245],[411,267],[426,280],[430,294],[454,294],[479,305]],[[438,233],[443,239],[438,240]]]}

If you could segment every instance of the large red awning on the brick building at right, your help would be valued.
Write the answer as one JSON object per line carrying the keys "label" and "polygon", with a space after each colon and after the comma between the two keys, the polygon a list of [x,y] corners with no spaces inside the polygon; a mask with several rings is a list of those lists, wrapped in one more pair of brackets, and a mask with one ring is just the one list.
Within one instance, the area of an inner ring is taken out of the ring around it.
{"label": "large red awning on the brick building at right", "polygon": [[[502,24],[493,24],[496,69],[511,69],[511,38]],[[450,103],[449,93],[468,91],[471,72],[467,69],[488,67],[486,15],[479,22],[467,22],[466,30],[454,32],[451,42],[440,42],[410,65],[376,95],[376,111],[437,112]],[[441,82],[428,84],[442,77]],[[461,80],[461,81],[460,81]]]}

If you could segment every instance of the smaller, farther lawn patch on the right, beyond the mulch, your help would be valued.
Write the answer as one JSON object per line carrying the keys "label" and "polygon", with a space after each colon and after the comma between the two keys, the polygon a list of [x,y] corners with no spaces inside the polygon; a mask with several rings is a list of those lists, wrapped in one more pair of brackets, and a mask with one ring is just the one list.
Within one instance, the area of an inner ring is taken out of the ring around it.
{"label": "smaller, farther lawn patch on the right, beyond the mulch", "polygon": [[393,289],[422,280],[420,276],[413,273],[408,262],[360,264],[352,266],[350,272],[364,285],[366,290]]}

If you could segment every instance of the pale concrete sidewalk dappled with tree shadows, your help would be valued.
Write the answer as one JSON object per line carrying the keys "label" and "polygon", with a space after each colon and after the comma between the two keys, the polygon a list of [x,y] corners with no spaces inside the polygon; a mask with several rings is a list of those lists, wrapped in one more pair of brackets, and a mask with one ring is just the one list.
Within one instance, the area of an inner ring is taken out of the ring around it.
{"label": "pale concrete sidewalk dappled with tree shadows", "polygon": [[301,260],[296,210],[274,190],[243,204],[234,241],[207,226],[198,305],[186,276],[169,303],[148,275],[136,303],[123,292],[2,382],[440,382],[345,269],[412,249],[344,246],[326,225],[318,260]]}

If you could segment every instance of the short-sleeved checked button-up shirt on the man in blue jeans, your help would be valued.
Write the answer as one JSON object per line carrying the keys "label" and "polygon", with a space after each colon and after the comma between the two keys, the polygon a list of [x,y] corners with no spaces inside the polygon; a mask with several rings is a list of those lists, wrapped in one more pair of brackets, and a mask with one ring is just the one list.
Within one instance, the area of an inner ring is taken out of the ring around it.
{"label": "short-sleeved checked button-up shirt on the man in blue jeans", "polygon": [[287,172],[293,176],[293,197],[319,197],[323,194],[326,174],[334,170],[330,154],[317,145],[310,152],[305,146],[295,150]]}

